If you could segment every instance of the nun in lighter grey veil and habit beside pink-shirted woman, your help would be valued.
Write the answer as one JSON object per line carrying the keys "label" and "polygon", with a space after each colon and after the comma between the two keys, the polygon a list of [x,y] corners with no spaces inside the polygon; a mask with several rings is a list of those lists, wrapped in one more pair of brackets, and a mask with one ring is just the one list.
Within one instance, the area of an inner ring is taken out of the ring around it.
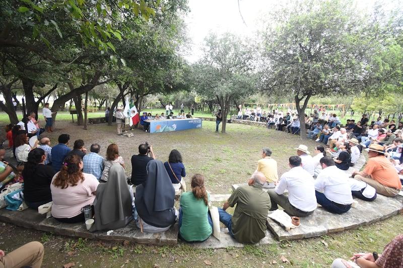
{"label": "nun in lighter grey veil and habit beside pink-shirted woman", "polygon": [[133,219],[133,191],[127,185],[123,167],[119,163],[112,164],[108,177],[108,182],[97,188],[91,232],[118,229]]}

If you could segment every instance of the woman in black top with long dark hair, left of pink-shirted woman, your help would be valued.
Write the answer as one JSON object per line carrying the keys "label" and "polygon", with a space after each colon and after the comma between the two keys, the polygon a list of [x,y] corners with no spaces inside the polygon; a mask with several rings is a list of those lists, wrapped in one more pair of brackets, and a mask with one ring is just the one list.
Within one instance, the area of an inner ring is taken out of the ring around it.
{"label": "woman in black top with long dark hair, left of pink-shirted woman", "polygon": [[24,178],[24,200],[30,208],[38,209],[39,206],[52,201],[50,182],[55,174],[52,166],[45,165],[45,151],[33,149],[28,154],[28,162],[25,163],[22,175]]}

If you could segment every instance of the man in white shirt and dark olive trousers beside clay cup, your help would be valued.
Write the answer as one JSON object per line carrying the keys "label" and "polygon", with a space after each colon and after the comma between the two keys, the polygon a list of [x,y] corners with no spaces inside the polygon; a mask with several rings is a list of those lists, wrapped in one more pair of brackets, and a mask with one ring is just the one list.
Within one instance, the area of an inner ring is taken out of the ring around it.
{"label": "man in white shirt and dark olive trousers beside clay cup", "polygon": [[[301,167],[301,158],[289,158],[290,171],[285,172],[275,189],[268,189],[267,193],[272,202],[270,210],[276,210],[277,205],[284,208],[291,216],[304,217],[311,215],[316,209],[315,181],[313,177]],[[288,196],[284,192],[288,190]]]}

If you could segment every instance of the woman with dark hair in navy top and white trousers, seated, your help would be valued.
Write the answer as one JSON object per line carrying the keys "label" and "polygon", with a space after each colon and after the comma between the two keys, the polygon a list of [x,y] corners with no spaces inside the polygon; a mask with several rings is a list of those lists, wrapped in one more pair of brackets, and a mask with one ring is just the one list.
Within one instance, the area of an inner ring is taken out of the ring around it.
{"label": "woman with dark hair in navy top and white trousers, seated", "polygon": [[185,183],[182,177],[186,176],[185,166],[182,163],[182,155],[178,150],[173,149],[169,153],[168,161],[164,163],[165,169],[171,179],[173,188],[179,190]]}

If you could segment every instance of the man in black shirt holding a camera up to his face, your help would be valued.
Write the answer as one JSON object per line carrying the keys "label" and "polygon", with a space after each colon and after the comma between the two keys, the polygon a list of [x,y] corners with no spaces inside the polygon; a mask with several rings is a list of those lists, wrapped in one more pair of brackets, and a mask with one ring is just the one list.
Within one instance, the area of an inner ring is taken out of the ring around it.
{"label": "man in black shirt holding a camera up to his face", "polygon": [[[149,156],[151,155],[151,157]],[[147,180],[147,163],[156,159],[153,146],[146,141],[145,144],[139,145],[139,154],[131,156],[131,183],[140,185]]]}

